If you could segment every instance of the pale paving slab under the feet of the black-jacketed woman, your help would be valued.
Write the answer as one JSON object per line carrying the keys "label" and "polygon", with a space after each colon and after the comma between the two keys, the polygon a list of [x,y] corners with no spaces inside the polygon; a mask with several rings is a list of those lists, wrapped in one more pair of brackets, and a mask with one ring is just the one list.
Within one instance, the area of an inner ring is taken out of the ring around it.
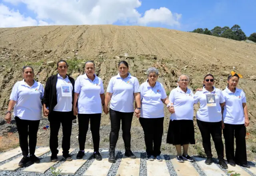
{"label": "pale paving slab under the feet of the black-jacketed woman", "polygon": [[[74,151],[74,149],[69,150],[70,153],[72,151]],[[60,160],[63,159],[62,149],[59,149],[59,153],[58,153],[58,156],[57,156],[58,157],[57,162],[51,162],[51,155],[52,154],[49,154],[48,156],[42,158],[39,163],[32,164],[31,166],[22,170],[22,172],[35,172],[35,173],[44,174],[48,169],[50,169],[50,167],[52,167],[54,164],[57,164]]]}

